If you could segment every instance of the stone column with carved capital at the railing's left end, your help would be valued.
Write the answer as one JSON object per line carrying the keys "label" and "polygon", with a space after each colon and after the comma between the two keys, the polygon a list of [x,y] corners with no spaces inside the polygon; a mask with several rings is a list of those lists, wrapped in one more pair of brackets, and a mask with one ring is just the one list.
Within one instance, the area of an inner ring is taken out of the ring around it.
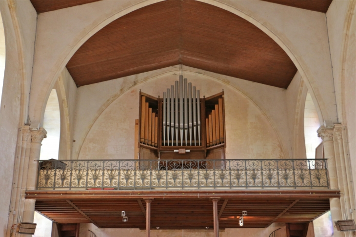
{"label": "stone column with carved capital at the railing's left end", "polygon": [[[39,162],[35,161],[40,159],[40,151],[43,138],[46,138],[46,130],[40,128],[35,131],[31,131],[31,150],[30,158],[28,163],[28,173],[27,173],[27,190],[35,190],[38,176],[38,166]],[[35,203],[36,199],[25,199],[25,205],[23,209],[23,218],[24,222],[33,222],[35,214]]]}

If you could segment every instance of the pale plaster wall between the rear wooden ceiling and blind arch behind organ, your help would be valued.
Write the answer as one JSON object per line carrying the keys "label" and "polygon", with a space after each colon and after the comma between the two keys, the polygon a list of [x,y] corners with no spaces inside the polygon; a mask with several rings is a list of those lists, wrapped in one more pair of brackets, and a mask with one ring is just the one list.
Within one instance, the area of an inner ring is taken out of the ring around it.
{"label": "pale plaster wall between the rear wooden ceiling and blind arch behind organ", "polygon": [[[138,84],[140,84],[138,88],[141,88],[143,91],[145,91],[147,80],[157,77],[164,77],[166,75],[178,75],[178,69],[179,67],[177,65],[174,67],[163,68],[147,73],[125,77],[122,79],[115,79],[79,87],[73,138],[76,140],[76,142],[73,142],[72,158],[78,158],[81,145],[83,144],[84,139],[91,129],[92,124],[95,123],[96,119],[101,115],[105,108],[109,106],[116,98],[118,98],[126,91],[131,90]],[[269,120],[269,124],[271,124],[275,130],[278,142],[282,147],[283,157],[292,157],[290,155],[290,140],[286,139],[291,135],[289,134],[288,130],[288,116],[284,92],[285,90],[242,79],[222,76],[186,66],[183,67],[183,70],[185,73],[192,73],[194,78],[209,78],[215,81],[219,81],[225,85],[220,85],[219,88],[231,87],[234,88],[234,90],[238,90],[243,93],[246,98],[256,104],[262,114],[264,114],[265,117]],[[160,93],[162,93],[165,88],[166,87],[160,90]],[[213,94],[207,94],[205,91],[202,92],[204,92],[204,94],[207,96]],[[156,94],[156,96],[158,96],[158,92]],[[138,99],[135,98],[134,101],[138,102]],[[138,105],[134,110],[134,113],[138,113]],[[135,119],[138,119],[138,114]],[[134,122],[134,120],[132,122]],[[131,125],[133,126],[133,124]]]}

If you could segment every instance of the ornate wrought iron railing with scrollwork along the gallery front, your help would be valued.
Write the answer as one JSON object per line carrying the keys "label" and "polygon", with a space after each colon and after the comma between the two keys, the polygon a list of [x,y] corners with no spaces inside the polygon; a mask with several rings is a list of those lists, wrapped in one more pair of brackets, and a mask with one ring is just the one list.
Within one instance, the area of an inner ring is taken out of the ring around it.
{"label": "ornate wrought iron railing with scrollwork along the gallery front", "polygon": [[328,188],[325,159],[46,160],[38,189]]}

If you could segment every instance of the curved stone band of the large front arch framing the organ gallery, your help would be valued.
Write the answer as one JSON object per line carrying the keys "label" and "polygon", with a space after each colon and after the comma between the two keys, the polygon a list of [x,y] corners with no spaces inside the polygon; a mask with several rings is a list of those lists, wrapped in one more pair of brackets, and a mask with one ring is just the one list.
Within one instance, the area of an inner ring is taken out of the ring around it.
{"label": "curved stone band of the large front arch framing the organ gallery", "polygon": [[[76,52],[76,50],[86,41],[88,40],[93,34],[98,32],[101,28],[103,28],[105,25],[108,23],[112,22],[113,20],[118,19],[119,17],[128,14],[138,8],[159,2],[160,0],[147,0],[147,1],[141,1],[137,4],[128,6],[115,14],[111,14],[109,16],[100,16],[101,19],[98,19],[94,23],[92,23],[90,26],[86,27],[83,29],[81,32],[79,32],[75,38],[73,38],[68,45],[71,45],[70,48],[66,48],[62,50],[62,53],[59,57],[54,62],[54,65],[52,66],[50,72],[47,72],[45,75],[49,73],[49,75],[44,76],[45,78],[42,79],[41,83],[42,86],[40,91],[37,91],[36,93],[32,93],[33,97],[31,98],[31,103],[30,103],[30,117],[33,120],[38,120],[41,121],[43,119],[43,108],[44,108],[44,102],[46,101],[46,98],[49,96],[49,88],[54,85],[55,80],[58,78],[59,73],[61,70],[65,67],[66,63],[69,61],[69,59],[72,57],[72,55]],[[221,0],[200,0],[202,2],[212,4],[214,6],[220,7],[222,9],[225,9],[227,11],[230,11],[237,16],[248,20],[252,24],[256,25],[259,29],[261,29],[263,32],[265,32],[268,36],[270,36],[273,40],[277,42],[277,44],[287,53],[287,55],[292,59],[292,61],[295,63],[297,66],[297,69],[299,73],[302,75],[302,78],[304,79],[308,90],[311,92],[312,97],[314,101],[316,102],[316,109],[318,111],[319,118],[321,120],[324,120],[325,118],[331,118],[331,114],[333,112],[328,112],[327,108],[325,107],[325,102],[323,101],[323,95],[321,92],[318,90],[317,85],[315,83],[316,79],[313,78],[311,73],[304,68],[303,65],[306,65],[305,62],[303,62],[303,59],[301,57],[297,57],[295,52],[297,52],[297,48],[295,45],[293,45],[292,42],[290,42],[288,39],[285,37],[282,39],[280,37],[280,33],[273,27],[271,24],[266,24],[257,19],[257,16],[254,16],[251,12],[248,12],[247,10],[241,10],[236,7],[230,6],[226,3],[223,3]],[[40,77],[39,77],[40,78]],[[35,80],[38,78],[35,77]],[[40,80],[40,79],[39,79]],[[32,88],[35,88],[33,86]],[[327,120],[327,119],[325,119]]]}

